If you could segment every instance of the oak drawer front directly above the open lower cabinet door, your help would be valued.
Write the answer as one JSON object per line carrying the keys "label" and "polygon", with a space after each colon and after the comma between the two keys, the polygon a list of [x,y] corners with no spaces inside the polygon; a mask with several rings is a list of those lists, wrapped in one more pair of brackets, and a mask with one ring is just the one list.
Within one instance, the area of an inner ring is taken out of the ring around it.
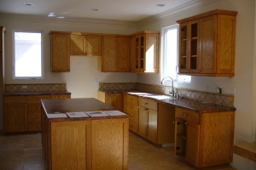
{"label": "oak drawer front directly above the open lower cabinet door", "polygon": [[181,118],[188,122],[195,122],[197,124],[199,124],[199,121],[200,121],[200,116],[198,112],[189,111],[189,110],[181,109],[178,107],[176,107],[175,117]]}

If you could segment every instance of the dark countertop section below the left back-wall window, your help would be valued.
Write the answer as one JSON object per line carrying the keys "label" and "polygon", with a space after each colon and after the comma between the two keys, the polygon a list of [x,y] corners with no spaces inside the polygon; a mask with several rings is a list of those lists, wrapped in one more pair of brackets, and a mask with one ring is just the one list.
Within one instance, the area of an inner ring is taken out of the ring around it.
{"label": "dark countertop section below the left back-wall window", "polygon": [[71,94],[68,91],[49,91],[49,92],[9,92],[9,93],[3,93],[4,96],[9,95],[50,95],[50,94]]}

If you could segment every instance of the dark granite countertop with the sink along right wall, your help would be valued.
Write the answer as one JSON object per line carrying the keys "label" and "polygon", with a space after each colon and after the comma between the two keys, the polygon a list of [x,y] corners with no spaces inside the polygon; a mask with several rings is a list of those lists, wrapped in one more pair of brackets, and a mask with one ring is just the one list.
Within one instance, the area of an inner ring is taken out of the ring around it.
{"label": "dark granite countertop with the sink along right wall", "polygon": [[158,102],[181,107],[183,109],[189,109],[191,111],[196,111],[199,113],[236,111],[235,107],[204,103],[204,102],[195,101],[192,99],[173,98],[172,96],[165,95],[165,94],[150,94],[150,93],[143,93],[143,92],[126,92],[126,93],[137,95],[139,97],[144,97],[148,99],[154,99]]}

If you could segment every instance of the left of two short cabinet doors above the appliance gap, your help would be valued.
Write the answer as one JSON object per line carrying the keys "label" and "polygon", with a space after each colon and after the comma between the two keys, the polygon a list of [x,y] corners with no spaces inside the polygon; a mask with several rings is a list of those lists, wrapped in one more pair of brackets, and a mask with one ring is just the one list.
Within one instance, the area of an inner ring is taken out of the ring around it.
{"label": "left of two short cabinet doors above the appliance gap", "polygon": [[82,35],[70,35],[70,54],[84,55],[84,37]]}

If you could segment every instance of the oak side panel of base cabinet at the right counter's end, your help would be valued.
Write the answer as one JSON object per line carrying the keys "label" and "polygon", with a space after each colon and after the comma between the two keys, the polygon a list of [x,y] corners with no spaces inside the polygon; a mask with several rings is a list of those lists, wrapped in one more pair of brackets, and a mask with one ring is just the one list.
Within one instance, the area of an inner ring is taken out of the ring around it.
{"label": "oak side panel of base cabinet at the right counter's end", "polygon": [[200,167],[232,161],[233,139],[234,112],[202,114]]}

